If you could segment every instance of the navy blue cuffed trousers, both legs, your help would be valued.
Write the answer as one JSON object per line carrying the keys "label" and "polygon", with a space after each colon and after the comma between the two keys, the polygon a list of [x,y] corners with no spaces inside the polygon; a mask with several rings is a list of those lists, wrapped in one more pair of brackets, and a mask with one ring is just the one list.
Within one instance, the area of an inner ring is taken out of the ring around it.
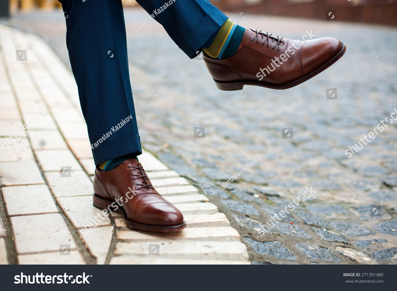
{"label": "navy blue cuffed trousers, both legs", "polygon": [[[130,153],[141,154],[121,0],[59,1],[66,17],[66,44],[95,164]],[[164,1],[137,2],[190,58],[228,18],[208,0]]]}

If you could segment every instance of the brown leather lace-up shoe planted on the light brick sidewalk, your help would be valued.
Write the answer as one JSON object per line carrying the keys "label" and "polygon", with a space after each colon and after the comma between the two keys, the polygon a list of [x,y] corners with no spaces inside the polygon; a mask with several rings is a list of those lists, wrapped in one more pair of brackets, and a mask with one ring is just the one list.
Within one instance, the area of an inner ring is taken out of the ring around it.
{"label": "brown leather lace-up shoe planted on the light brick sidewalk", "polygon": [[154,189],[136,159],[110,171],[96,168],[93,205],[108,211],[120,208],[125,224],[138,230],[174,232],[186,227],[181,211]]}

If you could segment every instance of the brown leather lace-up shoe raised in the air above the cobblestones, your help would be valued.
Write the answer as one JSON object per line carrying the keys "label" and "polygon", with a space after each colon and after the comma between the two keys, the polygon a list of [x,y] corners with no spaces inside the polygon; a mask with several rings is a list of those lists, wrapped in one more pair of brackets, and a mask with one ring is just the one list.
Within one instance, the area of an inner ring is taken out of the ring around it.
{"label": "brown leather lace-up shoe raised in the air above the cobblestones", "polygon": [[244,85],[287,89],[321,73],[345,52],[346,46],[335,38],[302,42],[247,29],[233,56],[213,59],[204,54],[204,61],[221,90]]}

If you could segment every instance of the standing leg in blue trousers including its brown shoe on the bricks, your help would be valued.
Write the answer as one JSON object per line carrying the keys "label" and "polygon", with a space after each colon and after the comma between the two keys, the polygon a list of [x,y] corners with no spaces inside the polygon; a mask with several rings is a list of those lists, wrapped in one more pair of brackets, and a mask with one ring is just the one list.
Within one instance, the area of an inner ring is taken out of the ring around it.
{"label": "standing leg in blue trousers including its brown shoe on the bricks", "polygon": [[94,176],[93,205],[108,212],[122,208],[131,228],[156,232],[185,228],[181,211],[159,195],[136,158],[142,149],[121,0],[60,1],[81,109],[95,164],[101,164]]}

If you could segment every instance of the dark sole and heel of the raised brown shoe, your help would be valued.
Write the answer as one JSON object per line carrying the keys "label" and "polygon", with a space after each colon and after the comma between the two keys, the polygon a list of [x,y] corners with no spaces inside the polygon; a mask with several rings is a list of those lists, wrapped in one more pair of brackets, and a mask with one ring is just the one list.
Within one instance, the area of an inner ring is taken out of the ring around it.
{"label": "dark sole and heel of the raised brown shoe", "polygon": [[302,84],[303,82],[309,80],[310,78],[313,78],[314,76],[320,74],[322,71],[328,69],[337,60],[339,60],[345,54],[345,52],[346,52],[346,46],[342,42],[342,49],[339,51],[339,53],[336,56],[334,56],[332,59],[330,59],[328,62],[326,62],[324,65],[318,67],[314,71],[304,75],[303,77],[301,77],[295,81],[292,81],[292,82],[289,82],[286,84],[275,85],[275,84],[270,84],[270,83],[256,81],[256,80],[241,80],[238,82],[224,82],[224,81],[218,81],[218,80],[214,79],[214,81],[216,83],[216,86],[220,90],[224,90],[224,91],[241,90],[241,89],[243,89],[244,85],[254,85],[254,86],[261,86],[261,87],[265,87],[265,88],[279,89],[279,90],[289,89],[289,88],[295,87],[299,84]]}

